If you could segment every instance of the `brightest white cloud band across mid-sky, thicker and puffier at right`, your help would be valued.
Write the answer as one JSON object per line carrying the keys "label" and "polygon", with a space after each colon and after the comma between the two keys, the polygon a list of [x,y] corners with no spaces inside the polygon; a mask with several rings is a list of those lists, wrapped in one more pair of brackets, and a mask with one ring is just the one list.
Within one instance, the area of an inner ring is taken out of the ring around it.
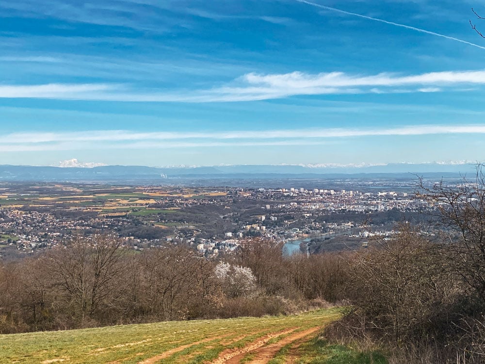
{"label": "brightest white cloud band across mid-sky, thicker and puffier at right", "polygon": [[[230,102],[281,99],[297,95],[466,91],[485,84],[485,70],[353,75],[344,72],[307,74],[247,73],[221,87],[199,90],[138,90],[120,84],[0,85],[0,98],[79,99],[145,102]],[[456,88],[460,86],[461,88]],[[453,88],[454,87],[454,88]]]}

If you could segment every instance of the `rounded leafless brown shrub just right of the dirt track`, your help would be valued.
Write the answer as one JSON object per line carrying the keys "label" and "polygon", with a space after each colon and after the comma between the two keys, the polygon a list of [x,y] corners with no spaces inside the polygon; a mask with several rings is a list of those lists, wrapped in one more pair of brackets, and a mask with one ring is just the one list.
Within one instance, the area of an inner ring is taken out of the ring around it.
{"label": "rounded leafless brown shrub just right of the dirt track", "polygon": [[379,332],[395,345],[437,335],[425,323],[436,320],[436,310],[451,302],[455,289],[438,258],[408,225],[395,238],[378,239],[356,252],[349,293],[362,330]]}

